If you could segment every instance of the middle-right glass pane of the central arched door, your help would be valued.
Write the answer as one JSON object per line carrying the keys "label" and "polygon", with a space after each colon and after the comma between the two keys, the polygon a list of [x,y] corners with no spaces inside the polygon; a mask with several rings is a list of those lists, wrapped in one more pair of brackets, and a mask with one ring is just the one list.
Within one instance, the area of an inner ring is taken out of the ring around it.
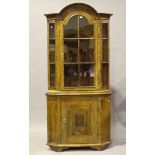
{"label": "middle-right glass pane of the central arched door", "polygon": [[80,62],[94,62],[94,39],[80,40]]}

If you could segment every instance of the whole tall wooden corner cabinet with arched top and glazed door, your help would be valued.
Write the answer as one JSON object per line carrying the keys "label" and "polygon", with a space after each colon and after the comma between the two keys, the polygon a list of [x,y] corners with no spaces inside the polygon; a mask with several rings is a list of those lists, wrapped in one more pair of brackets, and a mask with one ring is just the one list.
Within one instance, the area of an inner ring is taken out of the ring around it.
{"label": "whole tall wooden corner cabinet with arched top and glazed door", "polygon": [[110,143],[109,18],[71,4],[46,14],[48,146],[102,150]]}

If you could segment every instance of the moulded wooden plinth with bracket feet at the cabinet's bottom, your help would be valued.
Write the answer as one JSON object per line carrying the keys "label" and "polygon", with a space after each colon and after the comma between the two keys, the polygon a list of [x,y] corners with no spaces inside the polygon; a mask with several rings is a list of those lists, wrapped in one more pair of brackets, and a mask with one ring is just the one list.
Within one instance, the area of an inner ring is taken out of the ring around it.
{"label": "moulded wooden plinth with bracket feet at the cabinet's bottom", "polygon": [[110,142],[106,142],[104,144],[51,144],[51,143],[48,143],[48,146],[55,152],[61,152],[69,148],[83,148],[83,147],[91,148],[97,151],[102,151],[109,144]]}

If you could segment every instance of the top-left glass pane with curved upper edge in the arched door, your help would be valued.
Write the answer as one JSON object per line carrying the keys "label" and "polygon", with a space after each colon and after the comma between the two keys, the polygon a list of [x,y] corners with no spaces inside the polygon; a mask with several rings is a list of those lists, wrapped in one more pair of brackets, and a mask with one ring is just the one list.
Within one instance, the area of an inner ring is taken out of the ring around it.
{"label": "top-left glass pane with curved upper edge in the arched door", "polygon": [[64,26],[64,38],[78,37],[78,16],[73,16],[67,25]]}

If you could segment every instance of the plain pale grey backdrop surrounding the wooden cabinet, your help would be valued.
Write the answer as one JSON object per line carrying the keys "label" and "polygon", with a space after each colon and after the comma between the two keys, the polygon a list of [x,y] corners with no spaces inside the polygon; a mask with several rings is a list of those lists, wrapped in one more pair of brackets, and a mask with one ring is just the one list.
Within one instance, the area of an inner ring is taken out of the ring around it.
{"label": "plain pale grey backdrop surrounding the wooden cabinet", "polygon": [[[44,14],[58,13],[65,6],[76,2],[89,4],[98,12],[113,14],[110,20],[110,85],[113,92],[112,144],[109,150],[102,151],[102,153],[124,155],[123,146],[126,142],[125,0],[30,0],[30,155],[55,153],[46,146],[47,21]],[[87,153],[89,152],[91,153],[87,150]],[[68,153],[73,154],[73,152]],[[78,154],[76,151],[74,153]],[[93,153],[99,154],[100,152]]]}

